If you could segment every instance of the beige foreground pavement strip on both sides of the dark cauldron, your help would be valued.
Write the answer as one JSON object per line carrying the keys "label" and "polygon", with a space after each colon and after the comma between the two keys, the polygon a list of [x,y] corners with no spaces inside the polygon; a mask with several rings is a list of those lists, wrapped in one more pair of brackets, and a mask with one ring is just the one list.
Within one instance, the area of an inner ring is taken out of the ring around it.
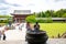
{"label": "beige foreground pavement strip on both sides of the dark cauldron", "polygon": [[[0,44],[28,44],[24,40],[0,41]],[[66,44],[66,38],[48,38],[46,44]]]}

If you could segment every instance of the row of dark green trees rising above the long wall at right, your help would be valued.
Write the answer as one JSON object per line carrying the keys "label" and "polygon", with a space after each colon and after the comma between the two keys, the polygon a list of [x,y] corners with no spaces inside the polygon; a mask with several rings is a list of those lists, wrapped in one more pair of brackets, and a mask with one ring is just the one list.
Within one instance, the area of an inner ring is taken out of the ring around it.
{"label": "row of dark green trees rising above the long wall at right", "polygon": [[65,14],[66,14],[66,9],[61,9],[57,11],[47,10],[35,13],[36,18],[65,18],[66,16]]}

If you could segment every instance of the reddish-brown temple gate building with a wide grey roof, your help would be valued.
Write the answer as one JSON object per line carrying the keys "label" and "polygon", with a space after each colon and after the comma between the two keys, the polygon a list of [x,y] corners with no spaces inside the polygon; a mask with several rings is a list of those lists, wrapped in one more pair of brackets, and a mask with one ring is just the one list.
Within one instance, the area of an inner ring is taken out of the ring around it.
{"label": "reddish-brown temple gate building with a wide grey roof", "polygon": [[11,13],[11,15],[13,15],[14,22],[25,22],[25,18],[32,14],[31,10],[14,10],[14,12]]}

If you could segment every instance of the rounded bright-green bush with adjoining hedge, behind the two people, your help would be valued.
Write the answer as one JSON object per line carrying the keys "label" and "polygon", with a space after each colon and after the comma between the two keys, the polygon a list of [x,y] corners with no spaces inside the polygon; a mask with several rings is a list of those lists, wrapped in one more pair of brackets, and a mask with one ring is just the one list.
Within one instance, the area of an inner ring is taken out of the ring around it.
{"label": "rounded bright-green bush with adjoining hedge, behind the two people", "polygon": [[36,20],[35,15],[30,15],[25,20],[26,20],[26,22],[31,22],[31,23],[35,23],[35,22],[38,22],[38,23],[52,23],[53,22],[52,18],[47,18],[46,20]]}

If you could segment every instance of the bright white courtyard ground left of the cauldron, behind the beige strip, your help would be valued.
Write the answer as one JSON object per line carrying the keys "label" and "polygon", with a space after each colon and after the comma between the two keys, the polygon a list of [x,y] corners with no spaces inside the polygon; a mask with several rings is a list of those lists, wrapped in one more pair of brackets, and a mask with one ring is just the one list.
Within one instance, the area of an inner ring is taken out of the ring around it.
{"label": "bright white courtyard ground left of the cauldron, behind the beige strip", "polygon": [[6,32],[7,41],[8,40],[25,40],[25,33],[26,33],[26,29],[25,29],[25,23],[24,23],[22,31],[18,30],[18,26],[15,30],[7,31]]}

